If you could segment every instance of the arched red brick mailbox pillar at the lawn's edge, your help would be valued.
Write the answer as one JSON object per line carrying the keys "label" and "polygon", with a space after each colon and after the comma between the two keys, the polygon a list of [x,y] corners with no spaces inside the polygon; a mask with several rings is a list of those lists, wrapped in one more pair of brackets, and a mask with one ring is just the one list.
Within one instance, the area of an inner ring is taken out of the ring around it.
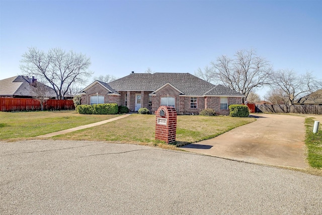
{"label": "arched red brick mailbox pillar at the lawn's edge", "polygon": [[170,106],[160,106],[155,112],[155,139],[171,144],[176,141],[176,132],[176,109]]}

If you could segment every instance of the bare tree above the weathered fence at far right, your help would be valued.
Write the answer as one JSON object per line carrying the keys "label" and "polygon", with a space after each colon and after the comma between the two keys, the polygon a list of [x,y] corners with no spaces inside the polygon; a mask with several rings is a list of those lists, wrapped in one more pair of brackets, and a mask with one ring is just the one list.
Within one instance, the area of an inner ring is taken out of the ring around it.
{"label": "bare tree above the weathered fence at far right", "polygon": [[311,73],[298,75],[291,69],[275,71],[271,76],[271,88],[283,92],[287,103],[293,105],[300,96],[314,92],[317,81]]}

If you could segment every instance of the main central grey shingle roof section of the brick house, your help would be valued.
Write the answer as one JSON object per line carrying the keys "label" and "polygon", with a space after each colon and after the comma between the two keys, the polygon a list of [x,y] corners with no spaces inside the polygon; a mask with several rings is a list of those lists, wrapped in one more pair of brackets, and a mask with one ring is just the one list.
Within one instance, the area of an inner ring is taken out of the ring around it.
{"label": "main central grey shingle roof section of the brick house", "polygon": [[215,85],[189,73],[133,73],[110,82],[116,91],[154,91],[170,83],[185,95],[202,96]]}

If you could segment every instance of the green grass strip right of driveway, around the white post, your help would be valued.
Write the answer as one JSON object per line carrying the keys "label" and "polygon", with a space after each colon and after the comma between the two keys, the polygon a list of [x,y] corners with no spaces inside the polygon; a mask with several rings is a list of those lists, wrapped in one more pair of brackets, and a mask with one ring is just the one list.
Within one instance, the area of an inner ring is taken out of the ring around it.
{"label": "green grass strip right of driveway, around the white post", "polygon": [[320,169],[322,168],[322,131],[318,129],[317,133],[313,133],[313,124],[313,118],[305,119],[307,160],[311,167]]}

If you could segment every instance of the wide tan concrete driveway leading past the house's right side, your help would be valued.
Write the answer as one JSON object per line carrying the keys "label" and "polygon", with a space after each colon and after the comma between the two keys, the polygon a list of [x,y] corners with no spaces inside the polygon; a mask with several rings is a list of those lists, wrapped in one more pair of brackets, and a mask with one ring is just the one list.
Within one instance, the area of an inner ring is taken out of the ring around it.
{"label": "wide tan concrete driveway leading past the house's right side", "polygon": [[188,152],[264,165],[307,168],[304,116],[252,114],[257,121],[182,147]]}

